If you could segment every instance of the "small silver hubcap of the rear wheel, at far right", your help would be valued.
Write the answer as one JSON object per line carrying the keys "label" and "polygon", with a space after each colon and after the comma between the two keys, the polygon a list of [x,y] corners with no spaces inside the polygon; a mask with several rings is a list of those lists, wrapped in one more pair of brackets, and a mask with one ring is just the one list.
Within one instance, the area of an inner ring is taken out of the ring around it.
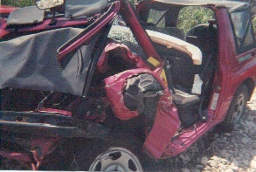
{"label": "small silver hubcap of the rear wheel, at far right", "polygon": [[235,103],[236,104],[232,113],[232,123],[234,124],[238,123],[245,108],[246,99],[244,93],[239,94],[239,97]]}

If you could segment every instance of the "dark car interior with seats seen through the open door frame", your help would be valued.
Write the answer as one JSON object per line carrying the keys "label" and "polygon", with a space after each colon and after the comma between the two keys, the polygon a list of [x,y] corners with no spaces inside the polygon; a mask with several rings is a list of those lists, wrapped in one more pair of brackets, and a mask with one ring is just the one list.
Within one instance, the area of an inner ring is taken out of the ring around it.
{"label": "dark car interior with seats seen through the open door frame", "polygon": [[[218,28],[213,17],[204,23],[198,22],[192,25],[185,33],[182,28],[178,27],[178,18],[182,15],[183,8],[187,7],[154,3],[154,5],[143,7],[139,15],[147,29],[183,39],[196,45],[203,54],[202,64],[194,65],[188,54],[154,43],[157,52],[162,58],[166,58],[166,63],[170,65],[165,71],[167,75],[170,75],[169,84],[175,89],[173,98],[182,126],[190,127],[197,120],[207,120],[206,112],[217,68]],[[197,7],[194,10],[197,10]],[[205,10],[211,9],[205,8]],[[195,74],[199,74],[203,81],[201,94],[191,93]]]}

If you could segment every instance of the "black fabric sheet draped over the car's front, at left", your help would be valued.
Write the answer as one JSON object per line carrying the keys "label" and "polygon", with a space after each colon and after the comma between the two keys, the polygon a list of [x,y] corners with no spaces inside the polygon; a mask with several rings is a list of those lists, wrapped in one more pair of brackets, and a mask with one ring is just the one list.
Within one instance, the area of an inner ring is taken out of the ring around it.
{"label": "black fabric sheet draped over the car's front, at left", "polygon": [[96,38],[83,45],[59,69],[57,49],[83,31],[62,28],[14,38],[0,43],[0,88],[23,88],[82,95]]}

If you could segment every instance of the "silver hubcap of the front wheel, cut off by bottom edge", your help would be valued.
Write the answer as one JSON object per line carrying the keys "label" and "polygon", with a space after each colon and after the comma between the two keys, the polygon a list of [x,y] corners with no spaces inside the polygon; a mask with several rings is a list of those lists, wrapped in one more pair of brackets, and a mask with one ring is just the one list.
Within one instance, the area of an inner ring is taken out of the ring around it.
{"label": "silver hubcap of the front wheel, cut off by bottom edge", "polygon": [[89,171],[142,171],[142,165],[128,149],[109,148],[95,159]]}

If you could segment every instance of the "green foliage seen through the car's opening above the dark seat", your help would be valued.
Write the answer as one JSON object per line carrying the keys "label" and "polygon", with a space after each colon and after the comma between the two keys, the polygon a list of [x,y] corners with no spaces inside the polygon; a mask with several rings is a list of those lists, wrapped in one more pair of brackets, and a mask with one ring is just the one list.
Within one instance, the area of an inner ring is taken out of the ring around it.
{"label": "green foliage seen through the car's opening above the dark seat", "polygon": [[197,24],[208,23],[214,12],[204,7],[184,7],[179,14],[177,28],[187,32]]}

